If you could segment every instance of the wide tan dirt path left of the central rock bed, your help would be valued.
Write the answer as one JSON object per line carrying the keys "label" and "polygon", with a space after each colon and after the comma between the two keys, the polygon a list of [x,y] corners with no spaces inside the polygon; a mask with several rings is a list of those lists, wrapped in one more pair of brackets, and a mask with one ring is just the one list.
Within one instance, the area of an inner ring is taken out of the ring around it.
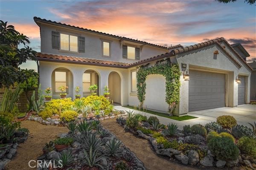
{"label": "wide tan dirt path left of the central rock bed", "polygon": [[30,160],[37,160],[42,155],[42,148],[46,142],[54,140],[59,133],[67,133],[67,127],[47,126],[38,122],[23,121],[21,127],[29,129],[29,137],[20,144],[15,158],[7,164],[7,170],[33,170],[28,166]]}

